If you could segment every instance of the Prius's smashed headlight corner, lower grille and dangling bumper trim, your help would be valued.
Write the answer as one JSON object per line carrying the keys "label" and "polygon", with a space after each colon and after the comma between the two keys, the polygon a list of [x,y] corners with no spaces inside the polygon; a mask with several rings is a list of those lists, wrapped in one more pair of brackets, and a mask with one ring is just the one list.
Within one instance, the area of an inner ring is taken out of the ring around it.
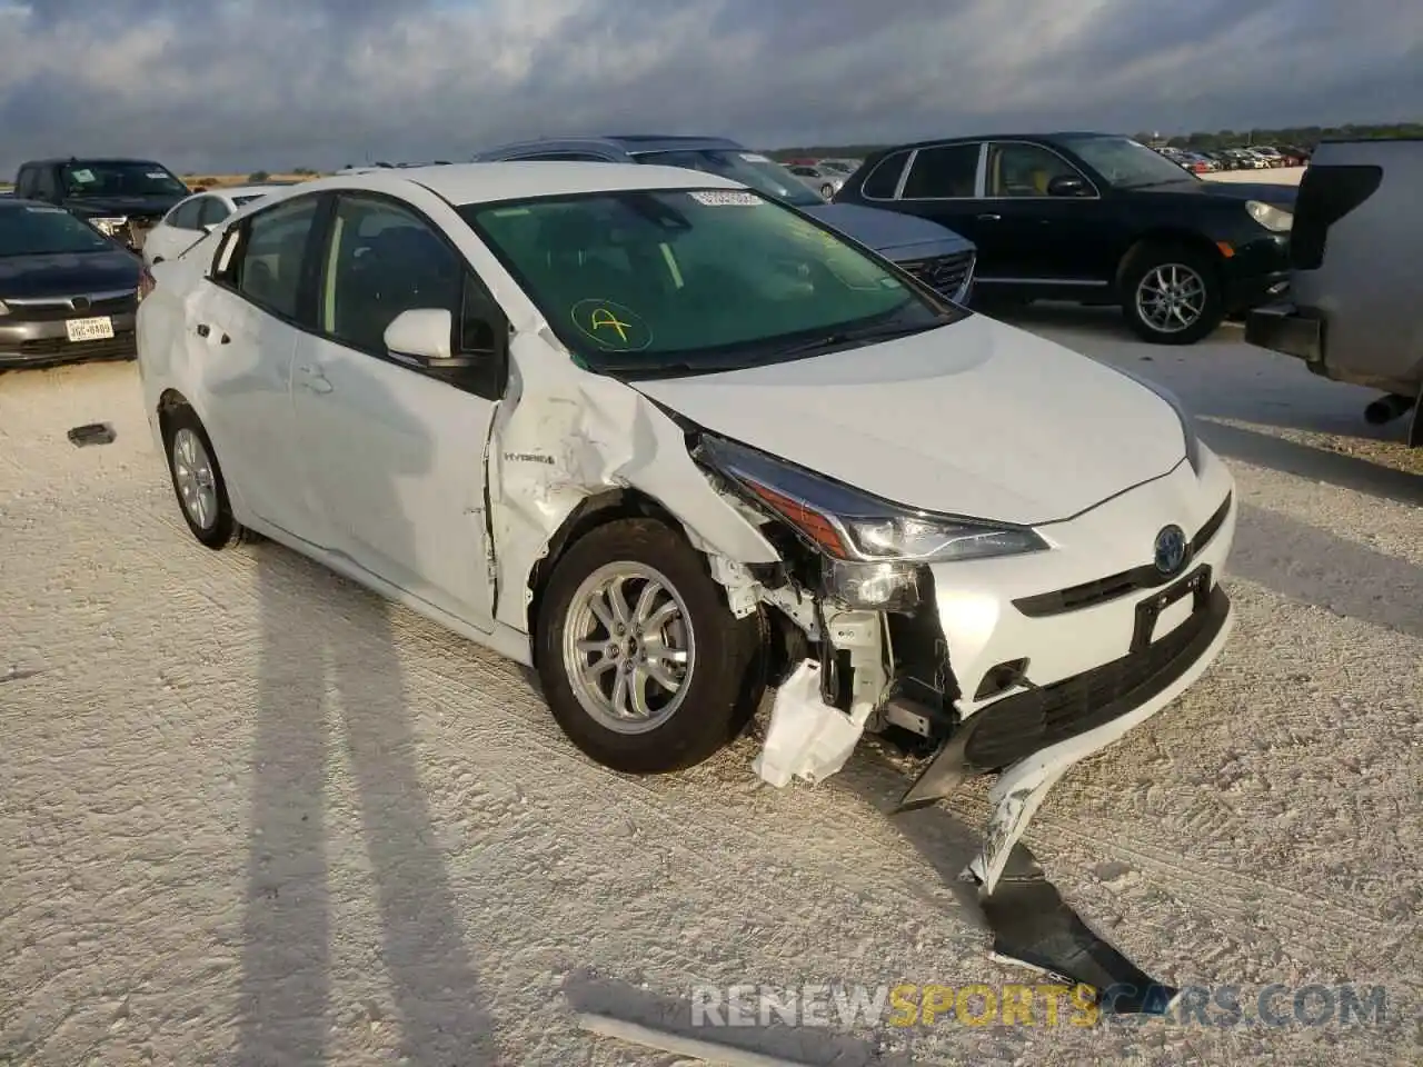
{"label": "Prius's smashed headlight corner, lower grille and dangling bumper trim", "polygon": [[[1146,605],[1157,613],[1181,600],[1191,606],[1190,623],[1150,654],[1134,649],[1046,689],[1029,680],[1027,659],[1009,660],[978,679],[965,700],[939,615],[936,565],[1044,552],[1037,532],[912,512],[712,435],[697,435],[693,458],[783,559],[774,573],[756,575],[757,599],[774,609],[781,644],[757,774],[777,787],[820,781],[844,767],[865,731],[933,754],[901,812],[998,773],[982,848],[963,871],[979,886],[995,956],[1099,990],[1114,986],[1116,1012],[1164,1013],[1174,990],[1091,933],[1020,838],[1074,763],[1174,700],[1214,659],[1231,619],[1211,569]],[[734,578],[719,575],[729,589]],[[740,578],[744,595],[747,575]],[[1147,619],[1148,639],[1154,620]],[[1141,996],[1121,996],[1128,987]]]}

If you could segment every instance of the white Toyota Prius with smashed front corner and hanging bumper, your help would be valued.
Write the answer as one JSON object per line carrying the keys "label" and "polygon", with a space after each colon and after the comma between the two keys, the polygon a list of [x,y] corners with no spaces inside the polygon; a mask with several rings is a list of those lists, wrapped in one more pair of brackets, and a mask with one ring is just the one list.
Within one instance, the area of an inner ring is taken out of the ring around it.
{"label": "white Toyota Prius with smashed front corner and hanging bumper", "polygon": [[1231,626],[1231,477],[1167,394],[706,174],[307,182],[144,277],[194,536],[255,531],[536,669],[601,764],[865,730],[999,773],[975,875]]}

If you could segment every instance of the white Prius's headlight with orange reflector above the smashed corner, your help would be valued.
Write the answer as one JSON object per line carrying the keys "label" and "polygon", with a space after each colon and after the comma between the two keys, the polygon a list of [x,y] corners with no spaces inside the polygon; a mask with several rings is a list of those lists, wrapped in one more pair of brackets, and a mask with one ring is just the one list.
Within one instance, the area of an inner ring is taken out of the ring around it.
{"label": "white Prius's headlight with orange reflector above the smashed corner", "polygon": [[818,549],[825,592],[854,607],[912,607],[926,563],[1049,548],[1029,526],[916,512],[720,438],[703,438],[697,458]]}

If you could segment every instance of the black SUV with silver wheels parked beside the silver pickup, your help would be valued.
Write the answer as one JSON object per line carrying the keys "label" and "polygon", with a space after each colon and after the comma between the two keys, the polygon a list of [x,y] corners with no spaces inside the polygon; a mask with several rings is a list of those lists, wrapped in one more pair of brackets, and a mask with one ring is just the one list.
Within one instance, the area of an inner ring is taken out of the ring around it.
{"label": "black SUV with silver wheels parked beside the silver pickup", "polygon": [[1296,192],[1202,181],[1127,137],[1015,134],[875,152],[835,202],[969,238],[980,299],[1117,304],[1146,340],[1191,344],[1285,289]]}

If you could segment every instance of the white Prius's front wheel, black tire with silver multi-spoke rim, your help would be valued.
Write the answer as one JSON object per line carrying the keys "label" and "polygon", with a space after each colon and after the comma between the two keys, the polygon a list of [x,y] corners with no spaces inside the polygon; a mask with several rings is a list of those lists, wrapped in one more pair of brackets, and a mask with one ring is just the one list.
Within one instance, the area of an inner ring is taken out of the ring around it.
{"label": "white Prius's front wheel, black tire with silver multi-spoke rim", "polygon": [[[649,593],[653,583],[663,592]],[[647,666],[629,659],[638,647],[630,636],[616,659],[610,654],[619,636],[602,620],[612,600],[601,590],[612,586],[629,616],[645,593],[653,598],[645,615],[666,616],[646,633]],[[656,519],[616,519],[576,541],[549,575],[535,627],[554,718],[585,755],[625,774],[667,774],[709,760],[746,728],[766,690],[763,616],[733,616],[702,555]],[[579,652],[579,642],[601,647]],[[686,666],[675,662],[679,649]],[[632,718],[612,708],[615,679],[623,676],[622,708]],[[675,694],[657,677],[680,683]],[[638,691],[640,708],[632,700]]]}

